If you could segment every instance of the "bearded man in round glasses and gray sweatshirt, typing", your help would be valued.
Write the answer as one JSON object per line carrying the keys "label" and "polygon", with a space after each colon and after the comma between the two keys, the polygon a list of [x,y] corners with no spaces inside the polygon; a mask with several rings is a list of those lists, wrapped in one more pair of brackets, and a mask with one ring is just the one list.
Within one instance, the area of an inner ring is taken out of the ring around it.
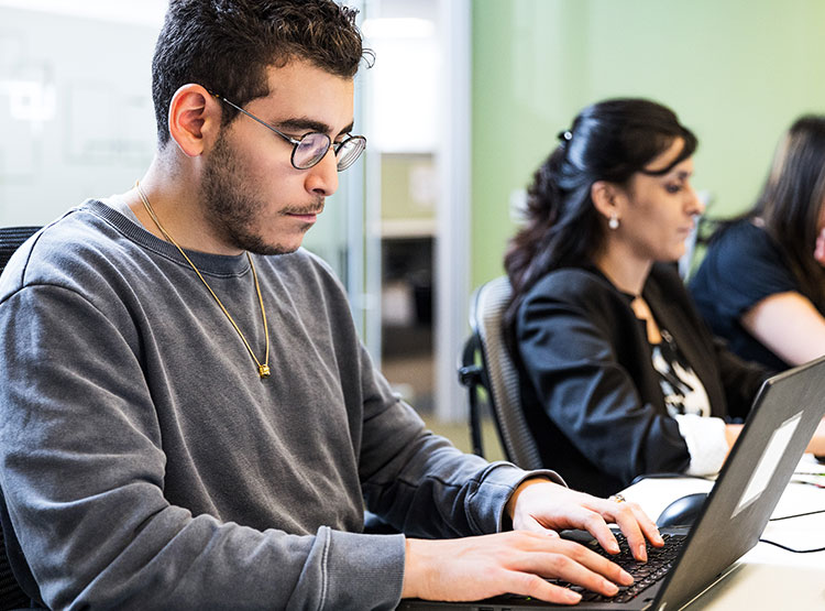
{"label": "bearded man in round glasses and gray sweatshirt, typing", "polygon": [[[638,557],[660,543],[631,503],[425,430],[373,368],[340,283],[299,248],[366,143],[351,133],[353,18],[331,0],[172,0],[151,167],[3,273],[0,487],[37,602],[574,602],[542,577],[607,594],[629,577],[554,531],[616,549],[607,520]],[[407,536],[363,534],[365,508]]]}

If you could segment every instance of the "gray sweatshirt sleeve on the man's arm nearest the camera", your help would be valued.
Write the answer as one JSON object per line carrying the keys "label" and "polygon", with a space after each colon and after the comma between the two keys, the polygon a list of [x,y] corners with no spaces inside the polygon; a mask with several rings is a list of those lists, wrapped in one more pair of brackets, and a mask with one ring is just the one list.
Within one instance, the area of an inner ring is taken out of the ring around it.
{"label": "gray sweatshirt sleeve on the man's arm nearest the camera", "polygon": [[174,505],[138,339],[63,287],[0,299],[0,485],[51,608],[395,607],[403,536],[295,535]]}

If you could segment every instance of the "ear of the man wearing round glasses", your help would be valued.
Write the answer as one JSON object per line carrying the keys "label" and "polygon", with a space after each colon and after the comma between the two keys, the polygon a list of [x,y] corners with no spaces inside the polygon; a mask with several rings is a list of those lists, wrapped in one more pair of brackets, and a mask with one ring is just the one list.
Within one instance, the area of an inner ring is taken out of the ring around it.
{"label": "ear of the man wearing round glasses", "polygon": [[190,157],[204,153],[221,128],[220,102],[201,85],[184,85],[169,103],[169,134]]}

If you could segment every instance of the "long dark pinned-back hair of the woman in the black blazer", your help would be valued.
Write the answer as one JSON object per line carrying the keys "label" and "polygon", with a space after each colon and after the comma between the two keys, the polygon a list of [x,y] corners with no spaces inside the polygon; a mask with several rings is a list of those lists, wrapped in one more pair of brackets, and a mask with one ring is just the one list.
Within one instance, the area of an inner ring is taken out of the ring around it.
{"label": "long dark pinned-back hair of the woman in the black blazer", "polygon": [[[684,145],[662,171],[645,167],[675,139]],[[662,175],[690,157],[696,138],[669,108],[646,99],[612,99],[582,110],[534,175],[525,226],[510,240],[504,266],[513,296],[504,314],[512,343],[516,313],[530,288],[551,270],[579,264],[604,242],[591,199],[598,181],[626,185],[637,172]]]}

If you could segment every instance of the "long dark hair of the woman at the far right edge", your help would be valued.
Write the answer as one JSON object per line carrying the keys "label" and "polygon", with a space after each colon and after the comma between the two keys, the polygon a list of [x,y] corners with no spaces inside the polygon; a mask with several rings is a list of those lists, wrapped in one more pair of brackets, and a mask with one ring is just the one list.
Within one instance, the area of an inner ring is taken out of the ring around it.
{"label": "long dark hair of the woman at the far right edge", "polygon": [[[825,117],[796,119],[773,155],[754,208],[739,218],[761,218],[801,292],[825,312],[825,270],[814,259],[825,203]],[[724,227],[723,227],[724,230]]]}

